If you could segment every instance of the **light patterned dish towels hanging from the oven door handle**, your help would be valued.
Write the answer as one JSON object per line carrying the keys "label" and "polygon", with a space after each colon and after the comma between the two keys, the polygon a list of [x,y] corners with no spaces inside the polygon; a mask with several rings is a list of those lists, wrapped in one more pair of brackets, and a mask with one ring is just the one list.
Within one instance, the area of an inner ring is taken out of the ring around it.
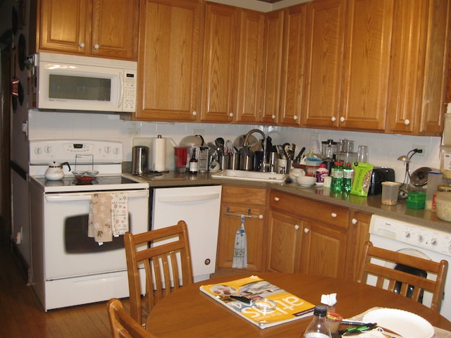
{"label": "light patterned dish towels hanging from the oven door handle", "polygon": [[92,194],[89,205],[88,237],[99,245],[128,231],[128,194]]}

